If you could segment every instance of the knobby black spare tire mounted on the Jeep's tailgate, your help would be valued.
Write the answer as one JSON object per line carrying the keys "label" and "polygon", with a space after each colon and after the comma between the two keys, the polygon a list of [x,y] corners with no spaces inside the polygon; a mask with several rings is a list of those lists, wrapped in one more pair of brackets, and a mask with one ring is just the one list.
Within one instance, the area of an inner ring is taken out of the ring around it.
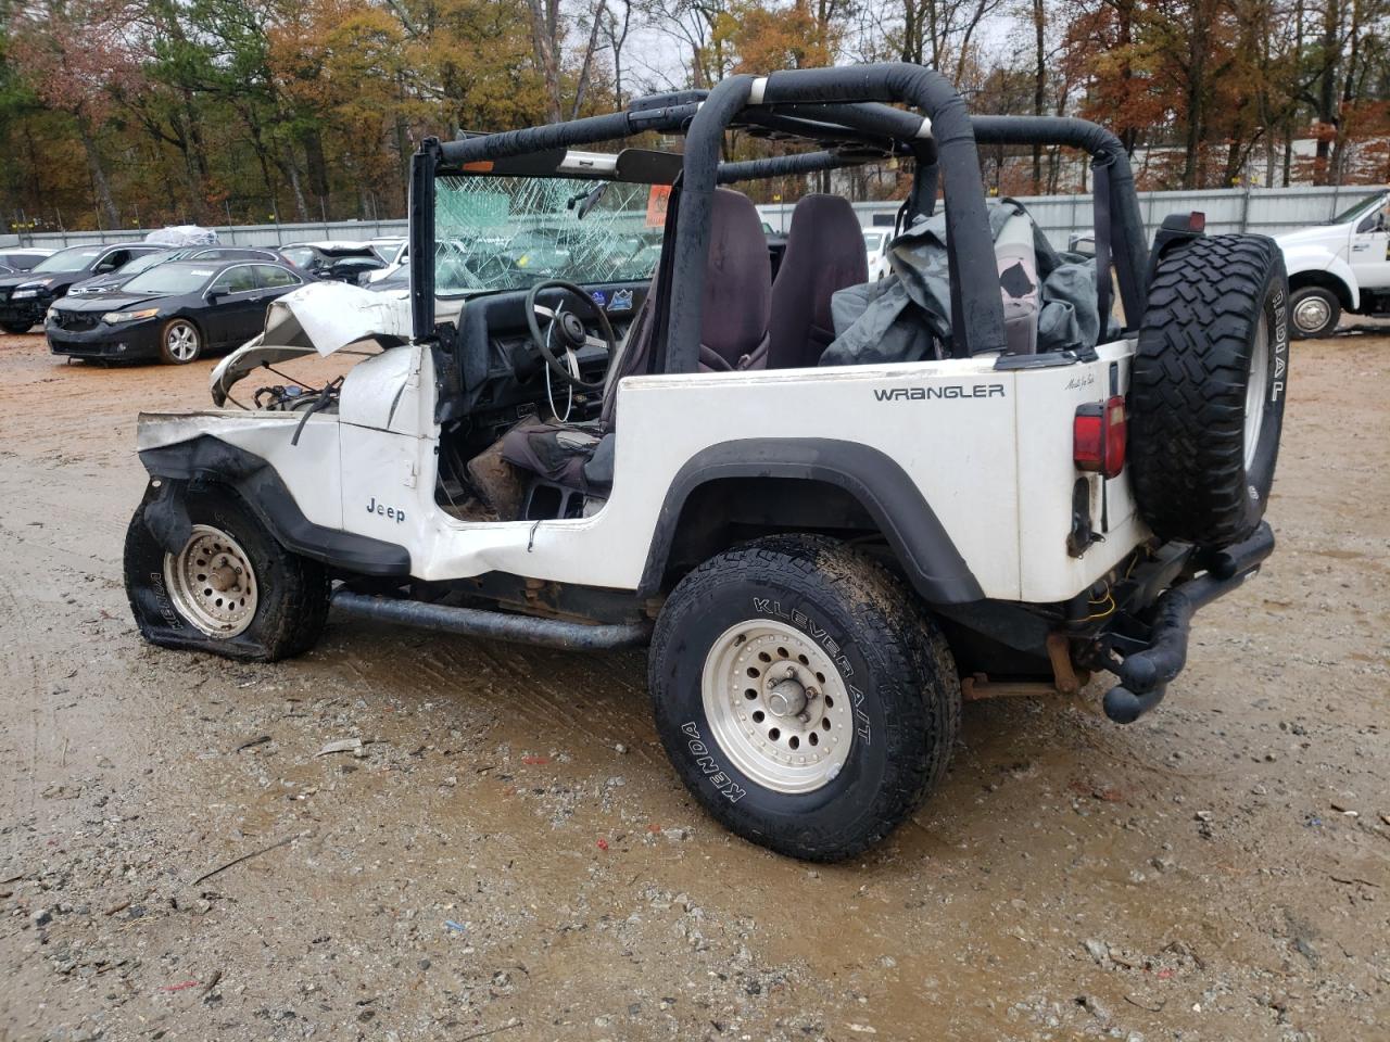
{"label": "knobby black spare tire mounted on the Jeep's tailgate", "polygon": [[1194,239],[1148,290],[1129,388],[1129,467],[1163,539],[1226,546],[1259,524],[1289,388],[1289,279],[1264,235]]}

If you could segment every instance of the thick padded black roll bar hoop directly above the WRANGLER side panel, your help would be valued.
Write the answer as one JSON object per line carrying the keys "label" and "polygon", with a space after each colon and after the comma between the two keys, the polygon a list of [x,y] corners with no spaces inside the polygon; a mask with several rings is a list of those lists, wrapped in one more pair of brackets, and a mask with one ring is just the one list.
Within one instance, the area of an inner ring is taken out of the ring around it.
{"label": "thick padded black roll bar hoop directly above the WRANGLER side panel", "polygon": [[[748,103],[753,76],[720,82],[691,122],[680,206],[680,251],[671,285],[670,336],[663,372],[694,372],[699,358],[696,303],[703,289],[710,193],[719,176],[724,128]],[[931,118],[948,200],[952,314],[962,321],[956,353],[979,354],[1005,347],[1004,303],[998,292],[994,239],[986,213],[980,157],[970,114],[955,88],[935,69],[905,63],[773,72],[764,104],[905,101]],[[920,125],[920,119],[919,119]],[[963,352],[960,347],[963,346]]]}

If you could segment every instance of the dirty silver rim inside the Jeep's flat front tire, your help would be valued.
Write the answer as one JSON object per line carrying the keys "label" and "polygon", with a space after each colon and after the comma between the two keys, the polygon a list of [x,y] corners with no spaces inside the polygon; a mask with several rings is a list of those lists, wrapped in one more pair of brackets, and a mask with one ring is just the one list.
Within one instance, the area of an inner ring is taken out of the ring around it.
{"label": "dirty silver rim inside the Jeep's flat front tire", "polygon": [[183,549],[164,554],[164,586],[178,613],[208,636],[245,631],[260,600],[246,552],[211,525],[193,525]]}

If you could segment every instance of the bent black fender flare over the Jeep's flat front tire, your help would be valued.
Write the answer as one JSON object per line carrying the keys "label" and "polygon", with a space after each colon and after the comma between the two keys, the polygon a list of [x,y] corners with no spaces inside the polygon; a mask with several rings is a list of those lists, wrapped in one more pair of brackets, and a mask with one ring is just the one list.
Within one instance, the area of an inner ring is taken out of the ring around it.
{"label": "bent black fender flare over the Jeep's flat front tire", "polygon": [[227,485],[286,550],[357,575],[409,577],[404,546],[314,524],[268,460],[213,435],[140,452],[150,472],[146,525],[165,550],[188,540],[188,482]]}

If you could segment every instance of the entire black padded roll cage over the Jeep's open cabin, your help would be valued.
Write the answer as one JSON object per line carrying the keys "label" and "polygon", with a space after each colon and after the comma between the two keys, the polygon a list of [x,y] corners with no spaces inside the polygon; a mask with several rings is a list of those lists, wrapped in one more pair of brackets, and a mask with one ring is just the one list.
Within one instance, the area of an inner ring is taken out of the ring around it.
{"label": "entire black padded roll cage over the Jeep's open cabin", "polygon": [[[752,90],[760,83],[760,97]],[[756,101],[756,104],[749,104]],[[894,108],[902,101],[922,114]],[[929,122],[930,121],[930,122]],[[425,139],[411,164],[410,249],[411,320],[417,339],[434,333],[434,178],[474,164],[575,144],[628,138],[645,131],[685,133],[682,192],[674,278],[670,285],[670,339],[657,346],[659,372],[694,371],[699,354],[699,300],[709,253],[712,192],[717,183],[748,178],[803,174],[856,165],[862,156],[835,150],[798,153],[745,163],[720,163],[723,132],[730,125],[762,126],[812,140],[863,143],[890,154],[910,153],[917,160],[909,208],[930,214],[935,182],[944,172],[947,203],[951,307],[962,315],[956,356],[1002,350],[1004,314],[998,293],[992,238],[980,178],[977,143],[1066,144],[1088,151],[1095,169],[1097,249],[1118,229],[1115,270],[1125,303],[1126,324],[1143,315],[1147,299],[1147,247],[1129,157],[1109,131],[1065,117],[970,117],[951,83],[935,69],[903,63],[824,69],[790,69],[759,79],[738,75],[709,92],[653,94],[632,101],[627,111],[478,135],[441,143]],[[485,167],[484,167],[485,168]],[[1105,189],[1105,190],[1102,190]],[[420,242],[417,242],[417,239]],[[418,260],[417,260],[418,258]],[[963,258],[963,260],[962,260]],[[1098,256],[1098,263],[1106,264]],[[1109,279],[1098,288],[1108,301]],[[1102,307],[1108,311],[1106,303]]]}

